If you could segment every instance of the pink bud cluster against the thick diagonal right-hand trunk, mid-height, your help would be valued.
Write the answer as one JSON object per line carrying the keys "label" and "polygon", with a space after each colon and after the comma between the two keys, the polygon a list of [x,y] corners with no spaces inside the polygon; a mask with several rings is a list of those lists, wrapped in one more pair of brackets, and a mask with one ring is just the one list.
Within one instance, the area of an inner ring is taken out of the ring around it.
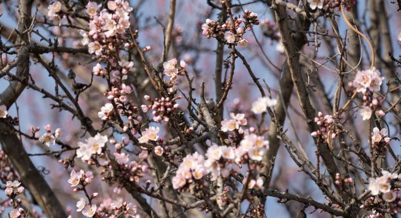
{"label": "pink bud cluster against the thick diagonal right-hand trunk, mid-height", "polygon": [[[320,129],[314,131],[311,133],[311,136],[313,137],[321,137],[322,139],[327,139],[331,137],[331,139],[334,139],[337,137],[338,132],[336,131],[336,128],[334,125],[334,119],[332,115],[326,115],[323,116],[322,112],[317,113],[318,117],[314,118],[314,122],[320,127]],[[328,136],[328,132],[332,130],[331,136]]]}

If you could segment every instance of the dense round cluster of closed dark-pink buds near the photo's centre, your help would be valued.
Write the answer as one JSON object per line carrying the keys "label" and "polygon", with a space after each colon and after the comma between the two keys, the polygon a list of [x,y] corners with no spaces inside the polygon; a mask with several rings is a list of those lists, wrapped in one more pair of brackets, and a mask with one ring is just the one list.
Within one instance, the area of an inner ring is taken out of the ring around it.
{"label": "dense round cluster of closed dark-pink buds near the photo's centre", "polygon": [[141,105],[140,108],[145,113],[149,109],[152,109],[153,121],[158,123],[162,120],[166,122],[170,121],[169,116],[173,115],[179,106],[177,103],[175,103],[175,100],[180,99],[181,96],[174,97],[173,99],[170,99],[169,97],[161,97],[153,100],[149,95],[145,95],[144,98],[146,101],[150,102],[150,104]]}

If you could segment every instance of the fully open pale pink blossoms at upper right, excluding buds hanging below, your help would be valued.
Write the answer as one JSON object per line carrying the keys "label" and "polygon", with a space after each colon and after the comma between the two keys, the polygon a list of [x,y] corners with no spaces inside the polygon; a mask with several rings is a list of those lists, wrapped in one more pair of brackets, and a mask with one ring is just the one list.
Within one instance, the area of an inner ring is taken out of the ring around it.
{"label": "fully open pale pink blossoms at upper right, excluding buds hanging below", "polygon": [[383,83],[384,77],[380,77],[380,71],[375,67],[369,70],[358,71],[352,85],[358,93],[366,93],[380,91],[380,86]]}

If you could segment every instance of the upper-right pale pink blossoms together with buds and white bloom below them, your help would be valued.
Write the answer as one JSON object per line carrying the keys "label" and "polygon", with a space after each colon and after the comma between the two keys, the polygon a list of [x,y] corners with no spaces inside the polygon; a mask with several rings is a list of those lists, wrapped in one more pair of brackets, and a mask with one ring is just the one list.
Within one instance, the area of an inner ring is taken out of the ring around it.
{"label": "upper-right pale pink blossoms together with buds and white bloom below them", "polygon": [[380,91],[384,77],[380,76],[380,71],[375,67],[369,70],[358,71],[352,86],[358,93],[364,94],[364,103],[359,113],[363,120],[368,120],[372,116],[372,112],[379,117],[385,115],[384,111],[379,109],[383,103],[381,97],[373,98],[372,92]]}

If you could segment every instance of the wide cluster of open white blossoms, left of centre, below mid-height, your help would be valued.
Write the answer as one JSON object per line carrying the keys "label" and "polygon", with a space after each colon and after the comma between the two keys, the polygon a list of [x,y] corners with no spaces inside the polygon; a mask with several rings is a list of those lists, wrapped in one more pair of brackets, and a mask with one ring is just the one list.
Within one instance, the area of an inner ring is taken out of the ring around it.
{"label": "wide cluster of open white blossoms, left of centre, below mid-height", "polygon": [[107,136],[102,136],[98,133],[95,137],[89,137],[85,142],[79,141],[77,149],[77,157],[82,161],[88,161],[92,155],[100,155],[103,147],[108,141]]}

